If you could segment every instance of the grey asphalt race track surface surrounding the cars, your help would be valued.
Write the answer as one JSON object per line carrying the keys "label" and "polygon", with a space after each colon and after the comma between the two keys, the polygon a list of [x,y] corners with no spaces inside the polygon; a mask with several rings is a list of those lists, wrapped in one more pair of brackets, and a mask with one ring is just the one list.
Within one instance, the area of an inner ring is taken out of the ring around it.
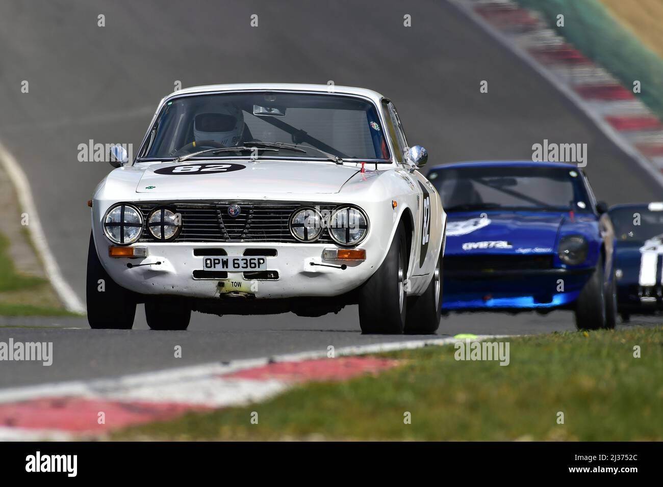
{"label": "grey asphalt race track surface surrounding the cars", "polygon": [[[253,14],[258,27],[250,25]],[[660,199],[660,187],[570,101],[445,1],[3,0],[0,60],[0,140],[23,166],[50,248],[82,299],[86,201],[111,168],[78,162],[78,144],[137,150],[176,81],[370,87],[394,100],[410,143],[428,149],[429,165],[529,160],[532,144],[546,138],[587,143],[599,199]],[[28,93],[21,93],[24,80]],[[479,92],[481,80],[489,93]],[[137,331],[91,331],[84,319],[0,321],[12,326],[0,329],[0,341],[53,341],[55,356],[50,367],[5,362],[10,373],[0,374],[0,386],[402,339],[362,336],[355,307],[320,319],[194,313],[186,333],[147,331],[142,307],[137,316]],[[567,311],[490,313],[452,315],[438,333],[567,329]],[[172,358],[174,345],[182,345],[182,359]]]}

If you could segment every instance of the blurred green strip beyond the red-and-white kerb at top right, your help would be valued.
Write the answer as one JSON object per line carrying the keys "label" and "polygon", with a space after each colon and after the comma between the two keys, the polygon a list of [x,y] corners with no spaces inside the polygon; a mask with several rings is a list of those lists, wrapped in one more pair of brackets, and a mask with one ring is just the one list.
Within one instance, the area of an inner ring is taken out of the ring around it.
{"label": "blurred green strip beyond the red-and-white kerb at top right", "polygon": [[[641,83],[643,103],[663,119],[663,60],[647,48],[597,0],[516,0],[539,11],[551,28],[587,58],[601,64],[628,89]],[[564,15],[564,27],[557,16]]]}

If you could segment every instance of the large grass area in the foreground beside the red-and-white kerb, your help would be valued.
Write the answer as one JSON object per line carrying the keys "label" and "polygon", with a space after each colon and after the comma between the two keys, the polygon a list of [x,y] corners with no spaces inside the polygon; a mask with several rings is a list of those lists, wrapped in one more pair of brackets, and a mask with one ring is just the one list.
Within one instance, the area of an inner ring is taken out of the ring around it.
{"label": "large grass area in the foreground beside the red-and-white kerb", "polygon": [[262,404],[188,413],[111,438],[663,439],[663,327],[508,340],[508,366],[456,361],[453,346],[393,352],[404,363],[378,376],[303,385]]}

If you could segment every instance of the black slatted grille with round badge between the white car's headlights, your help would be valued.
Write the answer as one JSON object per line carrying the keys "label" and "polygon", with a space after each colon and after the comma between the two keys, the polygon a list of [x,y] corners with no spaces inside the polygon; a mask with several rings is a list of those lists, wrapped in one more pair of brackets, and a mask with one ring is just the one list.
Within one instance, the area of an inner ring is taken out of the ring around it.
{"label": "black slatted grille with round badge between the white car's headlights", "polygon": [[[228,214],[230,205],[239,205],[237,217]],[[147,229],[148,215],[158,206],[177,209],[182,215],[182,232],[173,242],[284,242],[297,243],[288,228],[290,215],[300,207],[330,210],[333,203],[294,203],[271,201],[218,201],[200,203],[154,202],[139,203],[143,213],[143,235],[140,242],[154,242]],[[333,243],[324,230],[316,243]]]}

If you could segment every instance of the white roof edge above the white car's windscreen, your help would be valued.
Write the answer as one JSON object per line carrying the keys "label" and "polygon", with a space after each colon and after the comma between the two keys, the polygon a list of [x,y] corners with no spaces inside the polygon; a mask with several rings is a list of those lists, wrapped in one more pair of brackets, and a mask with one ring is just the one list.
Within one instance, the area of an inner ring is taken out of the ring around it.
{"label": "white roof edge above the white car's windscreen", "polygon": [[[330,91],[330,88],[333,91]],[[226,85],[204,85],[182,88],[173,91],[170,95],[164,97],[168,99],[176,95],[186,95],[195,93],[214,93],[217,91],[245,91],[245,90],[266,90],[266,91],[311,91],[312,93],[328,93],[342,95],[357,95],[371,99],[374,103],[380,103],[383,95],[372,89],[359,88],[354,86],[339,85],[311,85],[304,83],[235,83]]]}

